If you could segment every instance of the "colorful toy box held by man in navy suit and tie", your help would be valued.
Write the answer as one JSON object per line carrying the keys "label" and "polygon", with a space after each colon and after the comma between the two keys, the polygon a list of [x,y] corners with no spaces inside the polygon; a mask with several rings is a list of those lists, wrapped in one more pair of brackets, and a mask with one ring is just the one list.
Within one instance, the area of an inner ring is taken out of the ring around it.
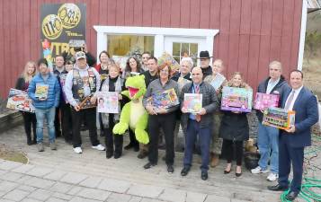
{"label": "colorful toy box held by man in navy suit and tie", "polygon": [[295,123],[295,111],[281,108],[268,108],[263,113],[263,125],[289,129]]}

